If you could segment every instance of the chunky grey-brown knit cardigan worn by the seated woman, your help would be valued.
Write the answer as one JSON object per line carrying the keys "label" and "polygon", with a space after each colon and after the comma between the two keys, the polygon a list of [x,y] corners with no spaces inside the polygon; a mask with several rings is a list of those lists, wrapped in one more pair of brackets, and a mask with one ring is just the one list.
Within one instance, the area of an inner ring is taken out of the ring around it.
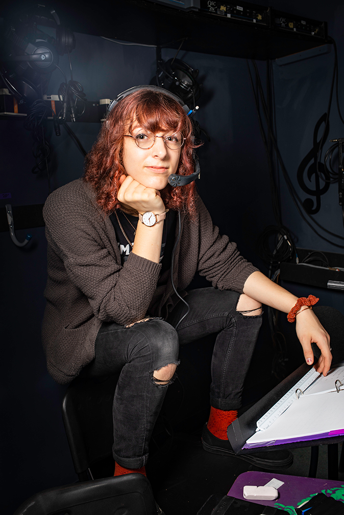
{"label": "chunky grey-brown knit cardigan worn by the seated woman", "polygon": [[[126,325],[147,313],[165,318],[178,299],[170,272],[160,278],[160,264],[131,252],[121,266],[111,220],[83,179],[51,193],[43,215],[48,280],[42,341],[49,373],[65,384],[94,359],[102,322]],[[257,270],[244,260],[236,244],[219,235],[200,198],[195,219],[182,214],[173,268],[178,291],[187,288],[196,270],[214,287],[239,293]]]}

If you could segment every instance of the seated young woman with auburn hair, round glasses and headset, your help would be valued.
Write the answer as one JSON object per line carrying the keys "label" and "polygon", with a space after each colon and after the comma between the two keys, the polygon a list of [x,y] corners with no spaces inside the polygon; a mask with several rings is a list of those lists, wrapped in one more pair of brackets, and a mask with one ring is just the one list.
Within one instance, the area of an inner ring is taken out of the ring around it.
{"label": "seated young woman with auburn hair, round glasses and headset", "polygon": [[[308,364],[331,364],[330,338],[311,299],[299,301],[221,236],[194,182],[192,126],[183,102],[156,87],[124,92],[86,158],[85,175],[44,207],[48,240],[43,345],[59,383],[121,371],[114,398],[115,475],[145,473],[154,423],[178,365],[178,347],[217,333],[207,451],[233,454],[236,419],[261,325],[262,304],[296,315]],[[211,283],[189,291],[196,270]],[[181,297],[185,299],[181,300]],[[185,301],[188,303],[186,305]],[[294,310],[293,310],[294,308]],[[263,468],[292,464],[288,451],[243,457]]]}

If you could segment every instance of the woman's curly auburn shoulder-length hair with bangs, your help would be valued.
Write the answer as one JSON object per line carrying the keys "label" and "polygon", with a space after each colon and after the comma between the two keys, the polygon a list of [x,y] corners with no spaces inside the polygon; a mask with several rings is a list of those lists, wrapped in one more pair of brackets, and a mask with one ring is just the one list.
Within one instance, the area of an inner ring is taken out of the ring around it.
{"label": "woman's curly auburn shoulder-length hair with bangs", "polygon": [[[124,134],[133,122],[154,134],[162,130],[182,132],[185,141],[180,152],[177,173],[190,175],[194,171],[193,153],[200,146],[192,137],[192,124],[183,107],[169,95],[150,89],[140,89],[124,97],[106,117],[98,139],[85,158],[84,180],[92,184],[97,203],[105,214],[120,207],[117,193],[119,178],[125,175],[122,161]],[[160,192],[166,208],[195,213],[195,183],[183,187],[170,184]]]}

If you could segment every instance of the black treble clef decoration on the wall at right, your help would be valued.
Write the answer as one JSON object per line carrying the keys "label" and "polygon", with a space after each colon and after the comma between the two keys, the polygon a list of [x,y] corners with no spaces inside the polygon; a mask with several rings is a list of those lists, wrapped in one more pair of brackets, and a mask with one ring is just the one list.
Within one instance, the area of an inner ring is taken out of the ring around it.
{"label": "black treble clef decoration on the wall at right", "polygon": [[[302,159],[300,166],[297,170],[297,181],[301,186],[302,190],[308,195],[312,195],[316,199],[316,205],[314,207],[314,201],[311,198],[306,198],[303,201],[303,207],[305,211],[314,215],[318,213],[320,210],[321,200],[320,197],[324,193],[326,193],[330,187],[330,181],[328,173],[323,165],[323,163],[318,162],[317,168],[317,156],[319,155],[320,149],[323,147],[325,141],[328,138],[330,131],[330,124],[326,124],[327,113],[324,113],[317,121],[314,127],[313,133],[313,148],[307,153],[307,155]],[[322,124],[326,124],[324,128],[324,134],[321,136],[318,141],[318,132]],[[320,146],[321,144],[321,146]],[[313,161],[313,162],[312,162]],[[311,163],[311,164],[309,164]],[[308,167],[308,168],[307,168]],[[309,182],[312,182],[312,178],[314,176],[315,181],[315,189],[308,187],[304,181],[303,174],[307,170],[307,179]],[[325,179],[324,185],[320,187],[320,175]]]}

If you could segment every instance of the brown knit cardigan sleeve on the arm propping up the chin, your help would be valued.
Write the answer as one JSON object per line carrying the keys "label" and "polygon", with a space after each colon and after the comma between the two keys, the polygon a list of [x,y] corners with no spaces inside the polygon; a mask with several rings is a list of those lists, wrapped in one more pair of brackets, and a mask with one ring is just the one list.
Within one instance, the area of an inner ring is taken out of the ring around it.
{"label": "brown knit cardigan sleeve on the arm propping up the chin", "polygon": [[70,190],[59,190],[49,196],[43,210],[54,258],[48,273],[55,276],[55,296],[70,296],[77,288],[101,321],[126,325],[143,318],[161,265],[131,253],[122,267],[111,224],[106,226],[101,211],[80,192],[66,198]]}

